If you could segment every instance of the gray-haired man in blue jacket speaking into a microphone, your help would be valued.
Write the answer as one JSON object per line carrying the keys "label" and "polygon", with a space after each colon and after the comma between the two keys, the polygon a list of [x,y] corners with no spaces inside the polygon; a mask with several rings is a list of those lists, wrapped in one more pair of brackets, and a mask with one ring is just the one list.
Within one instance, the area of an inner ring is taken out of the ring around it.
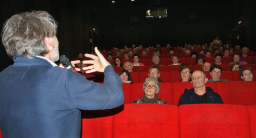
{"label": "gray-haired man in blue jacket speaking into a microphone", "polygon": [[124,103],[121,78],[97,47],[97,56],[85,54],[92,60],[83,61],[91,64],[83,70],[104,72],[104,85],[54,63],[59,58],[56,31],[57,23],[45,11],[16,14],[5,22],[2,42],[14,64],[0,73],[3,137],[80,137],[80,110]]}

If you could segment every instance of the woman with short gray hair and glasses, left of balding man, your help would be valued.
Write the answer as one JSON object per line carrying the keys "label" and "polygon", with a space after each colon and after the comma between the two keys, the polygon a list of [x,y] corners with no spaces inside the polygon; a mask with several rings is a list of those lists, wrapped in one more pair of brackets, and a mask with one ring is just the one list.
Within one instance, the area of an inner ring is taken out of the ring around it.
{"label": "woman with short gray hair and glasses, left of balding man", "polygon": [[157,93],[160,90],[160,84],[154,77],[148,77],[143,84],[144,96],[133,101],[132,104],[165,104],[167,102],[157,97]]}

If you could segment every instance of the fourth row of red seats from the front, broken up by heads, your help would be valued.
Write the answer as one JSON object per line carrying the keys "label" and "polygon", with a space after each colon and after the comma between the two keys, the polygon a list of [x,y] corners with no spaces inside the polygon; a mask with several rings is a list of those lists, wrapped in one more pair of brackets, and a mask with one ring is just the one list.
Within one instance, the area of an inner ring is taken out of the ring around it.
{"label": "fourth row of red seats from the front, broken up by heads", "polygon": [[[202,70],[203,65],[188,65],[192,70]],[[231,64],[221,64],[222,70],[230,71],[230,66]],[[133,71],[134,72],[144,72],[148,71],[148,69],[151,67],[150,66],[134,66]],[[180,70],[180,65],[175,65],[175,66],[157,66],[160,69],[160,72],[162,71],[179,71]],[[252,70],[256,70],[256,64],[244,64],[242,65],[242,68],[249,67]],[[115,72],[118,73],[120,70],[123,70],[124,67],[113,67]]]}

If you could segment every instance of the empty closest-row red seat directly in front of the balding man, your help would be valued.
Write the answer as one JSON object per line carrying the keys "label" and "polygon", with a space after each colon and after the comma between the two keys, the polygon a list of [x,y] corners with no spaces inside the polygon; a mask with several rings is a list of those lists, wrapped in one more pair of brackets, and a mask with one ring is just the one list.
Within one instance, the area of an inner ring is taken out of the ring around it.
{"label": "empty closest-row red seat directly in front of the balding man", "polygon": [[250,137],[248,109],[240,105],[181,105],[181,138]]}

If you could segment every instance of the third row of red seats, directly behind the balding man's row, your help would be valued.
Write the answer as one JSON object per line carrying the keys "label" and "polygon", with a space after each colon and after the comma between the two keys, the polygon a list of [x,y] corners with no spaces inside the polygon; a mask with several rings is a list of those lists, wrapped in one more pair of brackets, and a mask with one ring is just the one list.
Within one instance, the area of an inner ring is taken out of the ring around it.
{"label": "third row of red seats, directly behind the balding man's row", "polygon": [[[205,71],[207,78],[210,80],[211,75],[209,71]],[[133,83],[144,83],[146,78],[148,77],[148,72],[130,72],[132,77]],[[253,70],[253,74],[256,74],[256,70]],[[104,80],[104,73],[90,73],[90,74],[82,74],[84,75],[87,80],[94,81],[94,82],[103,82]],[[162,80],[164,83],[175,83],[180,82],[180,71],[161,71],[160,80]],[[242,80],[241,76],[239,75],[239,71],[227,71],[223,70],[221,74],[221,79],[228,79],[229,81],[244,81]],[[253,82],[256,82],[256,77],[253,77]]]}

